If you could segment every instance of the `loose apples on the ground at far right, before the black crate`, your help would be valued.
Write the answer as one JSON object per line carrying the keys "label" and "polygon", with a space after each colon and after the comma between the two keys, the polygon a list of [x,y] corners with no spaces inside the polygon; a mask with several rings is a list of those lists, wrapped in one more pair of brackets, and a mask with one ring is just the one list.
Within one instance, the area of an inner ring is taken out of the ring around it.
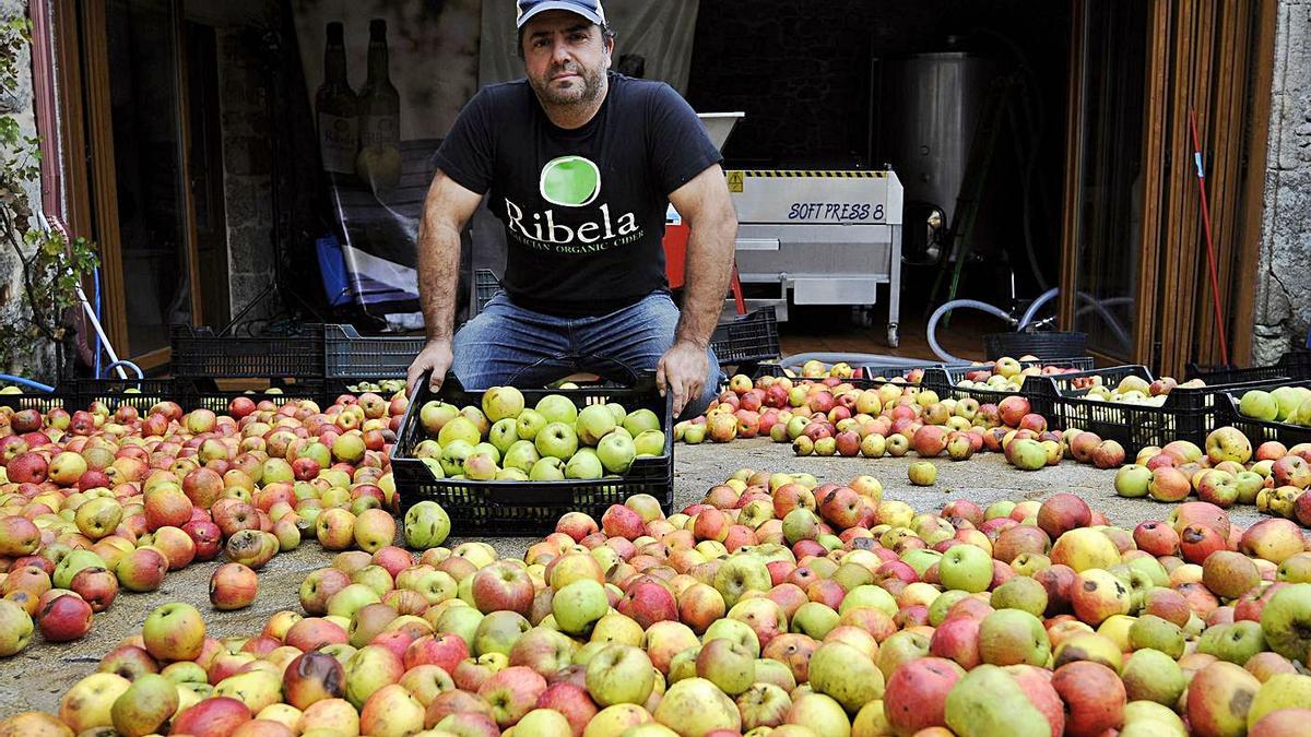
{"label": "loose apples on the ground at far right, before the black crate", "polygon": [[1134,463],[1116,472],[1116,493],[1180,502],[1196,494],[1221,509],[1256,505],[1265,514],[1311,527],[1311,443],[1291,448],[1277,441],[1256,451],[1238,428],[1217,428],[1205,447],[1175,441],[1146,447]]}

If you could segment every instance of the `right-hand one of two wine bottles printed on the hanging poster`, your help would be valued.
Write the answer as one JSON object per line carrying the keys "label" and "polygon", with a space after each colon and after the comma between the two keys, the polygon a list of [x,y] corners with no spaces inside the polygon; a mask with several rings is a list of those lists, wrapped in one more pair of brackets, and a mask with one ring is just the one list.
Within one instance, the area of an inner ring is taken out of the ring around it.
{"label": "right-hand one of two wine bottles printed on the hanging poster", "polygon": [[401,178],[401,98],[392,84],[387,21],[368,21],[368,79],[359,90],[359,156],[355,168],[375,191]]}

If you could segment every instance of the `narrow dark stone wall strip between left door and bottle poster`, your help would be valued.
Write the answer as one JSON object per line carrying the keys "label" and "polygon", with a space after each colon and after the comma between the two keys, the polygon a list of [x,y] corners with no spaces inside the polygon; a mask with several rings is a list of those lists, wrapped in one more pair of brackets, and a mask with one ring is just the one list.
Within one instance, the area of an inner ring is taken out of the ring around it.
{"label": "narrow dark stone wall strip between left door and bottle poster", "polygon": [[[228,290],[232,315],[269,290],[273,283],[273,177],[269,149],[266,75],[260,35],[250,28],[218,28],[219,111],[223,130],[223,197],[228,222]],[[265,300],[246,317],[265,317],[277,309]],[[208,317],[223,325],[228,316]]]}

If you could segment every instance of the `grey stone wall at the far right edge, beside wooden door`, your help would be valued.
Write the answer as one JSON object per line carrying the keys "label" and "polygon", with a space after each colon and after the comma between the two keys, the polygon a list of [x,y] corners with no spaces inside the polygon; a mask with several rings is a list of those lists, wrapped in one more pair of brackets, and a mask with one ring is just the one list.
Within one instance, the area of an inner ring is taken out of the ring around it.
{"label": "grey stone wall at the far right edge, beside wooden door", "polygon": [[1252,363],[1306,345],[1311,330],[1311,0],[1280,0],[1256,277]]}

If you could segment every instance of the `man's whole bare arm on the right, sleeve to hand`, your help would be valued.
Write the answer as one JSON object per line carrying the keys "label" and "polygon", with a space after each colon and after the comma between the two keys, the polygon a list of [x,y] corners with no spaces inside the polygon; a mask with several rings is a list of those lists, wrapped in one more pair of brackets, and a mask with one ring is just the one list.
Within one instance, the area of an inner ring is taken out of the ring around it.
{"label": "man's whole bare arm on the right, sleeve to hand", "polygon": [[687,266],[683,311],[674,346],[657,368],[657,382],[674,391],[674,413],[705,389],[709,361],[705,350],[724,309],[724,294],[733,273],[737,245],[737,214],[718,164],[705,169],[669,195],[687,222]]}

